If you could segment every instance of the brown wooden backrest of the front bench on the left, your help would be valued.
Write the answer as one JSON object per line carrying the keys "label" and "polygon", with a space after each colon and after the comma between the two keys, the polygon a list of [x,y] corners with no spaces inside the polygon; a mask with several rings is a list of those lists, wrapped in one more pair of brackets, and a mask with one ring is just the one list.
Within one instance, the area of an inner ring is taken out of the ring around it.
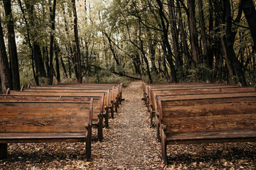
{"label": "brown wooden backrest of the front bench on the left", "polygon": [[0,102],[1,133],[85,132],[92,102]]}

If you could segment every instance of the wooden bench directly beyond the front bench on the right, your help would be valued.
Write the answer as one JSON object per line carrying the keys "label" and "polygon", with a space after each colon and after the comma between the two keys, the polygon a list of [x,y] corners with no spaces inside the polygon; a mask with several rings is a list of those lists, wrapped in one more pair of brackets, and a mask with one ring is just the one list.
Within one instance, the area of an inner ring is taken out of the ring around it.
{"label": "wooden bench directly beyond the front bench on the right", "polygon": [[187,94],[227,94],[235,92],[250,92],[256,91],[256,86],[239,87],[239,86],[198,86],[196,88],[172,88],[172,89],[151,89],[149,87],[149,113],[150,125],[153,125],[153,118],[156,113],[156,96],[179,96]]}

